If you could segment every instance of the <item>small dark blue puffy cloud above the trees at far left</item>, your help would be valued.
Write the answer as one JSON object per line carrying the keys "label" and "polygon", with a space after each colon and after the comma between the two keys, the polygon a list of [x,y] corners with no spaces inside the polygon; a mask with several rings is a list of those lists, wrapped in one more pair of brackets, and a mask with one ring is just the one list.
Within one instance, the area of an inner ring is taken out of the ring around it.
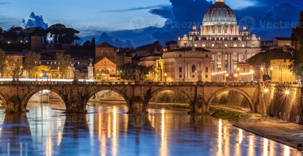
{"label": "small dark blue puffy cloud above the trees at far left", "polygon": [[30,27],[42,27],[46,29],[48,27],[48,24],[44,22],[43,17],[39,15],[35,15],[34,12],[31,13],[29,16],[28,20],[22,19],[20,23],[25,27],[25,28],[30,28]]}

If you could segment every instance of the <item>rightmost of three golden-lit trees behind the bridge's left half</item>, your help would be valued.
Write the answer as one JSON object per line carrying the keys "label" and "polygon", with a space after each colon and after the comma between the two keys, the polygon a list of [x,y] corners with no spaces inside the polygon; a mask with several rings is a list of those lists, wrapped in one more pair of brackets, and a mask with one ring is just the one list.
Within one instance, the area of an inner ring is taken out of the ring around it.
{"label": "rightmost of three golden-lit trees behind the bridge's left half", "polygon": [[58,70],[60,74],[60,78],[67,78],[69,74],[70,64],[72,63],[72,59],[70,55],[64,55],[63,53],[57,53],[56,56],[57,63],[53,63],[51,65],[51,69]]}

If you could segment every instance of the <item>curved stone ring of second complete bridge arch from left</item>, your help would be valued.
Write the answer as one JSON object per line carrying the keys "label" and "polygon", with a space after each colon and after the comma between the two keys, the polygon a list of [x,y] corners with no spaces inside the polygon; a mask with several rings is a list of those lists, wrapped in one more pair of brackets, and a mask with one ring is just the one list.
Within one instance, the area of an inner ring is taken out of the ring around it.
{"label": "curved stone ring of second complete bridge arch from left", "polygon": [[[89,101],[89,99],[92,96],[94,96],[96,93],[105,91],[105,90],[110,90],[110,91],[114,91],[114,92],[118,93],[121,97],[124,98],[124,100],[127,103],[128,108],[130,108],[130,103],[129,103],[130,99],[127,97],[127,95],[120,89],[118,89],[116,87],[110,87],[110,86],[97,87],[97,88],[93,89],[92,91],[88,92],[84,98],[84,103],[87,103]],[[86,107],[86,105],[83,105],[83,106]]]}

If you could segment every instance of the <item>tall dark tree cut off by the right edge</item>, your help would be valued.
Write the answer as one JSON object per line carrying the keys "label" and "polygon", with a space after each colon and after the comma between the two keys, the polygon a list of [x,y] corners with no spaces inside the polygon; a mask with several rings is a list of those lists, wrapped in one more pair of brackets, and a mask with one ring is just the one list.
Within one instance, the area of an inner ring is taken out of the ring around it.
{"label": "tall dark tree cut off by the right edge", "polygon": [[303,78],[303,11],[300,13],[299,25],[293,29],[290,40],[295,48],[291,58],[291,71],[297,77]]}

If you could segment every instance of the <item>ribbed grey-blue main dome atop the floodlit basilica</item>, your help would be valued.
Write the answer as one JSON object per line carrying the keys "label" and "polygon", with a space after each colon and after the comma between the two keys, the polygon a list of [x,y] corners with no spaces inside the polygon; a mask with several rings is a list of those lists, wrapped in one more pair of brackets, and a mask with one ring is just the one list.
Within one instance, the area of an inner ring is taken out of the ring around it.
{"label": "ribbed grey-blue main dome atop the floodlit basilica", "polygon": [[237,25],[233,10],[224,3],[224,0],[216,0],[215,4],[207,9],[203,26],[210,25]]}

